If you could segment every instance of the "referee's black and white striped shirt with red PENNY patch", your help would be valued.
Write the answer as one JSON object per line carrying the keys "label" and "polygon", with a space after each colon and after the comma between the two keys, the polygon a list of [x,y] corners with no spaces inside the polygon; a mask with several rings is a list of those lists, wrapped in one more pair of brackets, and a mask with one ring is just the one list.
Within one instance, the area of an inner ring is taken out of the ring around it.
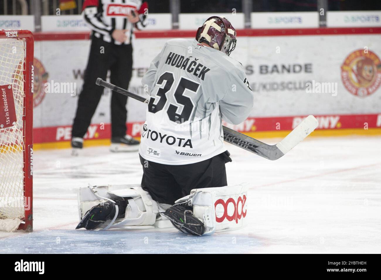
{"label": "referee's black and white striped shirt with red PENNY patch", "polygon": [[[137,10],[140,21],[135,24],[128,21],[127,14]],[[146,26],[148,4],[142,0],[85,0],[82,15],[93,35],[105,42],[122,45],[115,41],[111,34],[115,29],[126,29],[127,39],[124,44],[130,44],[133,28],[143,29]]]}

